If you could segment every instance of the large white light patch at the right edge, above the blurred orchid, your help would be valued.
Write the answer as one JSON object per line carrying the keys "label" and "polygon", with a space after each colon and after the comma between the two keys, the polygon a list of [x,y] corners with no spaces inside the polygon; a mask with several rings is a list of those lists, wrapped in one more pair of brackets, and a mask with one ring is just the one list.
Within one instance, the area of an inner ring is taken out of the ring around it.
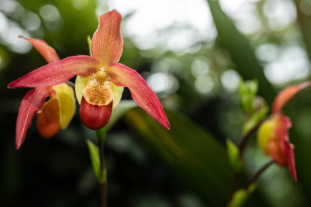
{"label": "large white light patch at the right edge, above the blurred orchid", "polygon": [[290,45],[264,68],[267,79],[274,84],[303,79],[310,75],[310,63],[303,48]]}

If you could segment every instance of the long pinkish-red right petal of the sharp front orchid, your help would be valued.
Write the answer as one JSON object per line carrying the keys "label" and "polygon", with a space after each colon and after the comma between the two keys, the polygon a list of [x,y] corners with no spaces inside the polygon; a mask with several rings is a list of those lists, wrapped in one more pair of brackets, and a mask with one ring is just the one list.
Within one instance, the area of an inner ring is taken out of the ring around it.
{"label": "long pinkish-red right petal of the sharp front orchid", "polygon": [[163,127],[170,128],[158,97],[137,71],[120,63],[110,63],[105,70],[114,85],[128,87],[138,106],[142,107]]}

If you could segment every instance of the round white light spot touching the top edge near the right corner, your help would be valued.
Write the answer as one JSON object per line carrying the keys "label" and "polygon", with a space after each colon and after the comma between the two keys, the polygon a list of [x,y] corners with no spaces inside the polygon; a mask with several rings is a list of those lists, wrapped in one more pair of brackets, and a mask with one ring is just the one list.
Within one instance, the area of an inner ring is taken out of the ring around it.
{"label": "round white light spot touching the top edge near the right corner", "polygon": [[269,18],[272,30],[282,30],[296,19],[296,7],[289,0],[270,0],[263,5],[263,13]]}

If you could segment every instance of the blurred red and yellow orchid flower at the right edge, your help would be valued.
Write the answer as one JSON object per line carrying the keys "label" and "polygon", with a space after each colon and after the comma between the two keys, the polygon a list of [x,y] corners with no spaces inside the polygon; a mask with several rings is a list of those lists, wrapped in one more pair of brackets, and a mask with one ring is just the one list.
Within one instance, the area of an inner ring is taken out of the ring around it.
{"label": "blurred red and yellow orchid flower at the right edge", "polygon": [[288,136],[292,123],[289,117],[281,113],[281,109],[296,93],[310,85],[311,82],[307,81],[282,90],[273,101],[270,119],[262,123],[257,134],[258,145],[262,152],[280,166],[288,166],[296,182],[294,145],[290,143]]}

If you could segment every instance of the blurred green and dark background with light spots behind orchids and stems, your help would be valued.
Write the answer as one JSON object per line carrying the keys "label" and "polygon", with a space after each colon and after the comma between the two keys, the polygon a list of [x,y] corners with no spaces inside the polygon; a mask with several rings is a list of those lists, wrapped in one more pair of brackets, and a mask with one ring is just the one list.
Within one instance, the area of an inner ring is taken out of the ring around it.
{"label": "blurred green and dark background with light spots behind orchids and stems", "polygon": [[[0,206],[100,205],[86,145],[94,131],[81,123],[79,105],[69,127],[50,140],[38,135],[34,118],[15,150],[17,112],[29,89],[6,86],[46,64],[18,35],[44,39],[61,59],[86,55],[86,37],[111,9],[123,16],[119,62],[156,92],[171,129],[132,108],[124,90],[105,142],[108,205],[224,206],[233,177],[225,139],[237,143],[243,125],[239,79],[257,79],[268,105],[286,85],[310,79],[309,0],[0,0]],[[310,92],[284,108],[298,182],[274,165],[248,206],[311,205]],[[267,160],[253,136],[240,187]]]}

